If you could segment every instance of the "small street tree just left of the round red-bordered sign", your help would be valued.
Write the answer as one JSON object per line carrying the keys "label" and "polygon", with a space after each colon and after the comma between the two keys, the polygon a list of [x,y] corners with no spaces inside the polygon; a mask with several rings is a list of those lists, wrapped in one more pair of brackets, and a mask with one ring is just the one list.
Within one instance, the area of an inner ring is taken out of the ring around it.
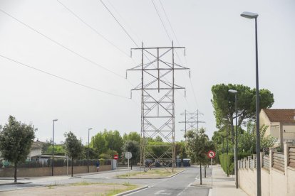
{"label": "small street tree just left of the round red-bordered sign", "polygon": [[204,128],[201,128],[199,131],[187,131],[185,136],[187,138],[187,154],[193,162],[200,163],[200,185],[202,185],[202,164],[208,163],[207,152],[209,150],[214,151],[214,143],[209,141]]}

